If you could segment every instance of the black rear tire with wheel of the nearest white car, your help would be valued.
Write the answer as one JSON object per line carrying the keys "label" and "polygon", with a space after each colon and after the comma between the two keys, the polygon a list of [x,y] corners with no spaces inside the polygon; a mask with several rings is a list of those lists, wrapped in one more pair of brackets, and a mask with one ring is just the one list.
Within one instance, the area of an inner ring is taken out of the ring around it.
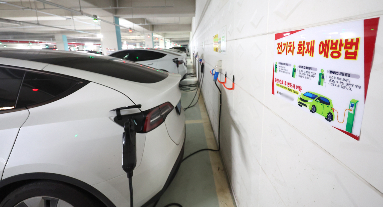
{"label": "black rear tire with wheel of the nearest white car", "polygon": [[79,189],[54,181],[36,181],[16,188],[3,199],[0,207],[34,207],[31,202],[36,203],[36,207],[41,202],[44,202],[44,206],[51,206],[52,202],[54,206],[61,202],[65,206],[99,207]]}

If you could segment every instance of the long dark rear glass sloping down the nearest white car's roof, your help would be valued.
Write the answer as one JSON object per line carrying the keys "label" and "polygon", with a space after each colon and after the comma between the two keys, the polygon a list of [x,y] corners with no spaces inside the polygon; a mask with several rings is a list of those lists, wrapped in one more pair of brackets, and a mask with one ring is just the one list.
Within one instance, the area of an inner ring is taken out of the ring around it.
{"label": "long dark rear glass sloping down the nearest white car's roof", "polygon": [[159,82],[169,75],[131,61],[89,53],[3,49],[0,57],[49,63],[141,83]]}

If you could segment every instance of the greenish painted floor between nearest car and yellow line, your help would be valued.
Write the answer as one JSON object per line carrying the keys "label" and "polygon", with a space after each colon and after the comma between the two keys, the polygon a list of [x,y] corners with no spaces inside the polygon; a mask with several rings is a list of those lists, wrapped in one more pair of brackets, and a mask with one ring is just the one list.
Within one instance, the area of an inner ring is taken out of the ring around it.
{"label": "greenish painted floor between nearest car and yellow line", "polygon": [[[203,124],[187,124],[184,157],[207,147]],[[179,203],[183,207],[219,207],[207,151],[199,152],[181,164],[177,175],[161,197],[157,207],[163,207],[173,202]]]}

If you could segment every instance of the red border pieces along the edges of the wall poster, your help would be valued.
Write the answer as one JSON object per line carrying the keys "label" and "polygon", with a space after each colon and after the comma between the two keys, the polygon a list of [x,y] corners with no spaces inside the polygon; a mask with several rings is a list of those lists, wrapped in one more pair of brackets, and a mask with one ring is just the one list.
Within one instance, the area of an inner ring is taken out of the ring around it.
{"label": "red border pieces along the edges of the wall poster", "polygon": [[[370,82],[370,74],[372,69],[372,61],[374,58],[374,52],[375,52],[375,42],[376,42],[376,34],[378,32],[378,25],[379,25],[379,17],[372,18],[372,19],[364,19],[363,20],[363,29],[364,29],[364,101],[366,102],[366,96],[367,96],[367,89],[368,89],[368,83]],[[284,34],[290,33],[288,35],[294,34],[296,32],[302,31],[295,30],[290,32],[282,32],[282,33],[276,33],[275,34],[275,40],[281,39]],[[286,35],[286,36],[288,36]],[[274,62],[273,62],[274,63]],[[273,81],[272,81],[272,94],[274,94],[274,64],[273,64]],[[334,127],[334,126],[333,126]],[[336,128],[336,127],[334,127]],[[336,128],[339,131],[349,135],[350,137],[356,139],[359,141],[359,136],[355,134],[351,134],[347,131],[344,131],[342,129]]]}

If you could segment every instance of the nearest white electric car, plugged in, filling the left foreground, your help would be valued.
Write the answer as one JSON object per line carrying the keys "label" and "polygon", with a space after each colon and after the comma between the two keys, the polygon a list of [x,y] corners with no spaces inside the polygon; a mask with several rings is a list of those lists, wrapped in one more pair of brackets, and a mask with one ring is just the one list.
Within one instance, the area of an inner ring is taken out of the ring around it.
{"label": "nearest white electric car, plugged in, filling the left foreground", "polygon": [[131,114],[142,115],[134,207],[159,199],[183,157],[180,79],[102,55],[0,50],[0,207],[129,206],[121,148]]}

